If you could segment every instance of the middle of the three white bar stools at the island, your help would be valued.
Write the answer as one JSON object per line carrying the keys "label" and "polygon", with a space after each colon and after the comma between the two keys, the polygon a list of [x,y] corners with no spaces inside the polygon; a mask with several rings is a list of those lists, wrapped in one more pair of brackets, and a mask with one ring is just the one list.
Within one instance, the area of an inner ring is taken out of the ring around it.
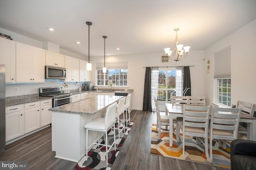
{"label": "middle of the three white bar stools at the island", "polygon": [[125,103],[125,97],[123,98],[120,98],[118,100],[118,104],[117,104],[117,107],[116,107],[116,121],[118,122],[118,139],[120,139],[120,132],[122,132],[122,130],[124,130],[124,126],[125,126],[125,122],[123,122],[124,126],[122,128],[120,128],[120,120],[119,120],[119,117],[121,114],[123,114],[123,121],[124,120],[124,103]]}

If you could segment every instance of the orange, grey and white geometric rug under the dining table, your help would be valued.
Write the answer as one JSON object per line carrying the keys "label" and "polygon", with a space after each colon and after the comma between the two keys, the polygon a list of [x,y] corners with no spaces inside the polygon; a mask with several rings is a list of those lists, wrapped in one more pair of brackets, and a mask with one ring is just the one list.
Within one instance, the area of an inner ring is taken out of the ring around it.
{"label": "orange, grey and white geometric rug under the dining table", "polygon": [[213,159],[206,158],[204,145],[197,144],[196,138],[192,136],[185,136],[185,154],[183,155],[182,141],[177,142],[176,135],[173,134],[173,145],[170,147],[169,132],[161,131],[160,140],[158,140],[156,124],[152,124],[151,154],[230,168],[230,148],[227,146],[227,148],[224,149],[220,147],[216,141],[213,141],[212,145]]}

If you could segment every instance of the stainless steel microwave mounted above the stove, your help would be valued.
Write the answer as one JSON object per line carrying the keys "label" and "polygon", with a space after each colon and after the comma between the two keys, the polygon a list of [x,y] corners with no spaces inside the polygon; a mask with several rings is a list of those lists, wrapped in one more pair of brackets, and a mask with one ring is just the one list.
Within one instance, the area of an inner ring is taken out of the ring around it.
{"label": "stainless steel microwave mounted above the stove", "polygon": [[66,68],[45,66],[45,79],[66,79]]}

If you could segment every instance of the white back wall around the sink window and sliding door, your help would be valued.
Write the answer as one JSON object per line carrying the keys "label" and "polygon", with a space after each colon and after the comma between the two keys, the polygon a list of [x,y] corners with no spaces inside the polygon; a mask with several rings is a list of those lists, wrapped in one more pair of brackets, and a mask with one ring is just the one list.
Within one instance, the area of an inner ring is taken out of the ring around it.
{"label": "white back wall around the sink window and sliding door", "polygon": [[[192,45],[191,45],[192,46]],[[193,46],[191,47],[193,50]],[[164,54],[132,54],[123,56],[106,56],[106,62],[123,62],[128,61],[128,86],[134,90],[132,108],[142,110],[144,95],[144,67],[150,66],[194,66],[190,67],[191,76],[191,94],[194,96],[204,96],[204,51],[190,51],[188,55],[180,61],[175,62],[169,59],[168,63],[161,62],[161,56]],[[103,57],[90,58],[92,70],[95,70],[96,62],[104,62]],[[106,64],[108,68],[108,65]],[[96,73],[92,71],[92,82],[96,84]]]}

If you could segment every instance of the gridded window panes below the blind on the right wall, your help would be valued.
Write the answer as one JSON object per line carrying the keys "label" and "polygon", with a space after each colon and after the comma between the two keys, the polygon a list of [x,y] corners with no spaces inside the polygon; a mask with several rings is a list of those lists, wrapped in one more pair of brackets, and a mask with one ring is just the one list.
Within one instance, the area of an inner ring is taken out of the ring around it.
{"label": "gridded window panes below the blind on the right wall", "polygon": [[218,78],[217,87],[217,102],[231,107],[231,78]]}

